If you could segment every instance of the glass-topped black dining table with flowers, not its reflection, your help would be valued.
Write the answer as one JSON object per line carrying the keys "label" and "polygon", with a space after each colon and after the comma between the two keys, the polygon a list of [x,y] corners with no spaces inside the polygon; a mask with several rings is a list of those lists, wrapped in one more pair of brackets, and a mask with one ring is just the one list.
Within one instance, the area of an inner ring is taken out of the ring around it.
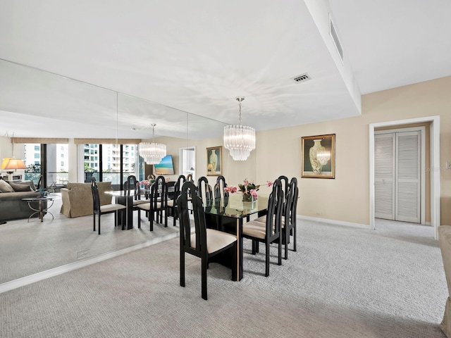
{"label": "glass-topped black dining table with flowers, not its reflection", "polygon": [[[237,280],[243,277],[243,237],[242,225],[249,221],[251,215],[266,215],[268,209],[268,198],[259,197],[255,201],[242,201],[240,194],[230,194],[221,199],[211,199],[204,203],[207,227],[228,232],[237,236],[237,261],[231,262],[225,251],[223,255],[217,255],[215,261],[230,268],[237,269]],[[215,256],[216,257],[216,256]]]}

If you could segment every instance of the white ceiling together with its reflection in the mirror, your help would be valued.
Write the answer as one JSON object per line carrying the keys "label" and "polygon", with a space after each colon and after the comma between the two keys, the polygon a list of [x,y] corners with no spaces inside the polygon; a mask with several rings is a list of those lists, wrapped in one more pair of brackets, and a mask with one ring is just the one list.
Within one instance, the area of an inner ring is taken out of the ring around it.
{"label": "white ceiling together with its reflection in the mirror", "polygon": [[449,13],[449,0],[0,0],[13,61],[0,61],[0,135],[150,138],[156,123],[217,137],[238,122],[235,96],[257,130],[359,115],[359,94],[451,75]]}

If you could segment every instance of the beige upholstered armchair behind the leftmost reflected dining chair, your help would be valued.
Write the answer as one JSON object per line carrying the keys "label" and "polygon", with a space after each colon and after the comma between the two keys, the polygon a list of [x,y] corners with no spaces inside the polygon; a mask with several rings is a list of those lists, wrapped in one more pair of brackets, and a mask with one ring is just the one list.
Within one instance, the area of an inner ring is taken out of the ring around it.
{"label": "beige upholstered armchair behind the leftmost reflected dining chair", "polygon": [[[106,192],[113,190],[111,182],[97,182],[99,187],[100,205],[111,204],[111,194]],[[61,213],[73,218],[92,215],[92,192],[90,183],[70,183],[67,188],[61,189]]]}

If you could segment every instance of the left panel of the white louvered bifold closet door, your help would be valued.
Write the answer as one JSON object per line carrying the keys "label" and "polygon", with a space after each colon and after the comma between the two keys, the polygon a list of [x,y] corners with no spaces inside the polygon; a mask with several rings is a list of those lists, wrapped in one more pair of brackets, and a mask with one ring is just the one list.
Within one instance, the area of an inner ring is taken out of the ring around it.
{"label": "left panel of the white louvered bifold closet door", "polygon": [[395,220],[395,134],[374,135],[374,216]]}

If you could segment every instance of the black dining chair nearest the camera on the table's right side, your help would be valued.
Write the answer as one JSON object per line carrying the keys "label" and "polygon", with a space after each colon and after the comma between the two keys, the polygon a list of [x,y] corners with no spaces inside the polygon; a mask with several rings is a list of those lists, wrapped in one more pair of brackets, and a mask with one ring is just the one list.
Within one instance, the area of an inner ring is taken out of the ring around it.
{"label": "black dining chair nearest the camera on the table's right side", "polygon": [[242,225],[242,235],[247,239],[252,239],[252,254],[258,251],[259,243],[265,244],[265,276],[269,275],[269,246],[273,242],[278,242],[278,265],[282,264],[282,236],[280,223],[282,216],[283,191],[280,180],[273,183],[273,191],[268,199],[268,213],[265,222],[251,220]]}

